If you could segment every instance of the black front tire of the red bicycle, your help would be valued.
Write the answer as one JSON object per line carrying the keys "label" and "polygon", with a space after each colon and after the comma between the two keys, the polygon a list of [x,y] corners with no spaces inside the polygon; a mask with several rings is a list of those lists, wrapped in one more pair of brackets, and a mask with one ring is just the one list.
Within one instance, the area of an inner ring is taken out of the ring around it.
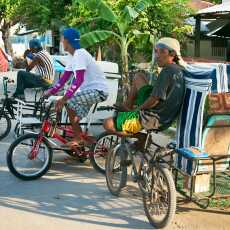
{"label": "black front tire of the red bicycle", "polygon": [[[46,174],[46,172],[50,169],[51,167],[51,163],[52,163],[52,157],[53,157],[53,151],[49,146],[49,143],[46,139],[42,139],[41,143],[39,144],[39,147],[41,144],[44,144],[44,146],[47,148],[47,156],[48,159],[46,160],[44,166],[42,167],[41,171],[39,171],[38,173],[34,173],[32,175],[26,175],[23,174],[21,172],[19,172],[19,170],[15,167],[14,163],[13,163],[13,156],[14,156],[14,151],[16,149],[16,147],[18,145],[20,145],[20,143],[22,143],[22,141],[25,141],[26,139],[33,139],[36,141],[36,139],[38,138],[38,134],[34,134],[34,133],[28,133],[25,134],[23,136],[20,136],[18,139],[16,139],[9,147],[8,152],[7,152],[7,166],[10,170],[10,172],[15,175],[16,177],[22,179],[22,180],[35,180],[38,179],[40,177],[42,177],[44,174]],[[26,146],[26,144],[24,144]],[[34,159],[33,159],[34,160]]]}

